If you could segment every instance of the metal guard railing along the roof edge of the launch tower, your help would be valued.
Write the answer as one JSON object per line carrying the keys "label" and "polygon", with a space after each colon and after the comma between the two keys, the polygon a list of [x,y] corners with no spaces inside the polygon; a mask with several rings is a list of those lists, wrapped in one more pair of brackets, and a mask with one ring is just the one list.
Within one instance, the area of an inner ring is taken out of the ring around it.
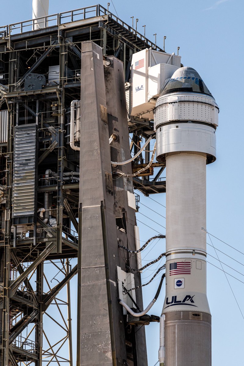
{"label": "metal guard railing along the roof edge of the launch tower", "polygon": [[156,46],[155,43],[151,42],[148,38],[140,34],[137,30],[129,26],[127,23],[123,22],[123,20],[118,18],[118,16],[112,14],[110,11],[108,12],[107,9],[100,4],[1,26],[0,37],[5,38],[10,37],[14,34],[22,34],[24,32],[32,31],[34,29],[34,26],[37,24],[37,21],[39,24],[43,24],[44,28],[52,26],[59,27],[60,25],[63,24],[90,19],[97,16],[106,16],[104,20],[106,20],[108,16],[110,18],[109,21],[115,20],[123,28],[127,29],[128,32],[133,35],[133,37],[135,35],[137,38],[139,38],[142,42],[149,45],[150,47],[162,51],[162,49]]}

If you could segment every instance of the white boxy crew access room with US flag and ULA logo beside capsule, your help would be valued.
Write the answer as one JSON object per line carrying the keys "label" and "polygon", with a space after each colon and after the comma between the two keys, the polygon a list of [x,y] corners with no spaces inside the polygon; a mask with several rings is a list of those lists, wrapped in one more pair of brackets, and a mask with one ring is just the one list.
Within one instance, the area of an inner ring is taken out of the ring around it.
{"label": "white boxy crew access room with US flag and ULA logo beside capsule", "polygon": [[153,120],[153,108],[166,79],[181,66],[174,53],[144,49],[134,53],[131,63],[131,116]]}

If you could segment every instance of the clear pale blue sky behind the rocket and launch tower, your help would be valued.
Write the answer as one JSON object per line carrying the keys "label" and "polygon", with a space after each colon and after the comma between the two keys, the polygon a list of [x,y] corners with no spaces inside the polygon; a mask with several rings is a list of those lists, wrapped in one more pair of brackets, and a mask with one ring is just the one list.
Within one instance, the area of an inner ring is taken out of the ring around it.
{"label": "clear pale blue sky behind the rocket and launch tower", "polygon": [[[1,4],[0,22],[2,25],[32,18],[31,0],[9,0]],[[72,10],[82,6],[94,5],[95,1],[65,1],[49,0],[49,14]],[[25,6],[23,6],[25,4]],[[106,2],[100,1],[106,7]],[[157,33],[157,44],[163,44],[166,36],[165,50],[177,52],[180,46],[181,62],[184,66],[195,68],[217,101],[219,127],[217,129],[217,161],[207,166],[207,230],[235,247],[241,252],[243,248],[243,139],[244,121],[241,108],[243,105],[243,12],[241,0],[174,0],[174,1],[118,1],[113,0],[119,18],[131,22],[130,17],[139,18],[138,31],[154,40]],[[114,14],[112,1],[109,10]],[[165,195],[154,195],[165,205]],[[149,198],[141,197],[141,202],[162,216],[165,208]],[[165,219],[149,211],[141,205],[140,212],[158,224],[146,219],[142,214],[137,218],[155,230],[165,233]],[[153,229],[139,224],[142,242],[155,234]],[[244,282],[242,273],[244,255],[228,247],[219,240],[212,238],[213,245],[233,257],[218,252],[219,259],[240,273],[223,265],[226,272]],[[211,244],[209,238],[207,242]],[[164,251],[165,243],[159,241],[155,247],[145,251],[145,260],[154,259]],[[207,252],[216,257],[209,245]],[[148,254],[148,255],[147,255]],[[219,262],[209,256],[208,261],[220,267]],[[146,263],[146,261],[144,262]],[[147,277],[153,272],[143,273]],[[227,275],[228,276],[228,275]],[[240,309],[244,314],[244,284],[228,276]],[[146,279],[145,281],[146,282]],[[143,293],[144,306],[154,297],[159,278],[153,281]],[[207,294],[212,313],[212,354],[214,366],[226,363],[233,364],[243,361],[243,326],[236,300],[230,290],[225,275],[221,270],[208,264]],[[161,314],[164,300],[162,291],[151,312]],[[74,319],[74,314],[73,314]],[[159,325],[153,323],[146,327],[147,351],[149,366],[157,362]]]}

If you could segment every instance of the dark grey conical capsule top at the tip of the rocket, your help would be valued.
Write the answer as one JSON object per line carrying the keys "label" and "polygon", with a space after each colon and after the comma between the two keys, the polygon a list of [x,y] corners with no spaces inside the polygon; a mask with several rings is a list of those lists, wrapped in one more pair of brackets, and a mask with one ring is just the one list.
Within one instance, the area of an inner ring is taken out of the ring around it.
{"label": "dark grey conical capsule top at the tip of the rocket", "polygon": [[198,72],[192,67],[180,67],[174,72],[162,90],[161,96],[178,92],[193,92],[211,95]]}

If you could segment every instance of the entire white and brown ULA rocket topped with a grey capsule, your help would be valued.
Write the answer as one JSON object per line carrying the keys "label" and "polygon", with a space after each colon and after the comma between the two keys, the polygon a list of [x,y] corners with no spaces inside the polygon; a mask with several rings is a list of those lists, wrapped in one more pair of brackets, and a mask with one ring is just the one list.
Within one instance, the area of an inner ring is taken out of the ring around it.
{"label": "entire white and brown ULA rocket topped with a grey capsule", "polygon": [[216,160],[219,108],[191,67],[174,72],[157,99],[157,160],[166,162],[166,295],[160,366],[211,365],[206,294],[206,164]]}

